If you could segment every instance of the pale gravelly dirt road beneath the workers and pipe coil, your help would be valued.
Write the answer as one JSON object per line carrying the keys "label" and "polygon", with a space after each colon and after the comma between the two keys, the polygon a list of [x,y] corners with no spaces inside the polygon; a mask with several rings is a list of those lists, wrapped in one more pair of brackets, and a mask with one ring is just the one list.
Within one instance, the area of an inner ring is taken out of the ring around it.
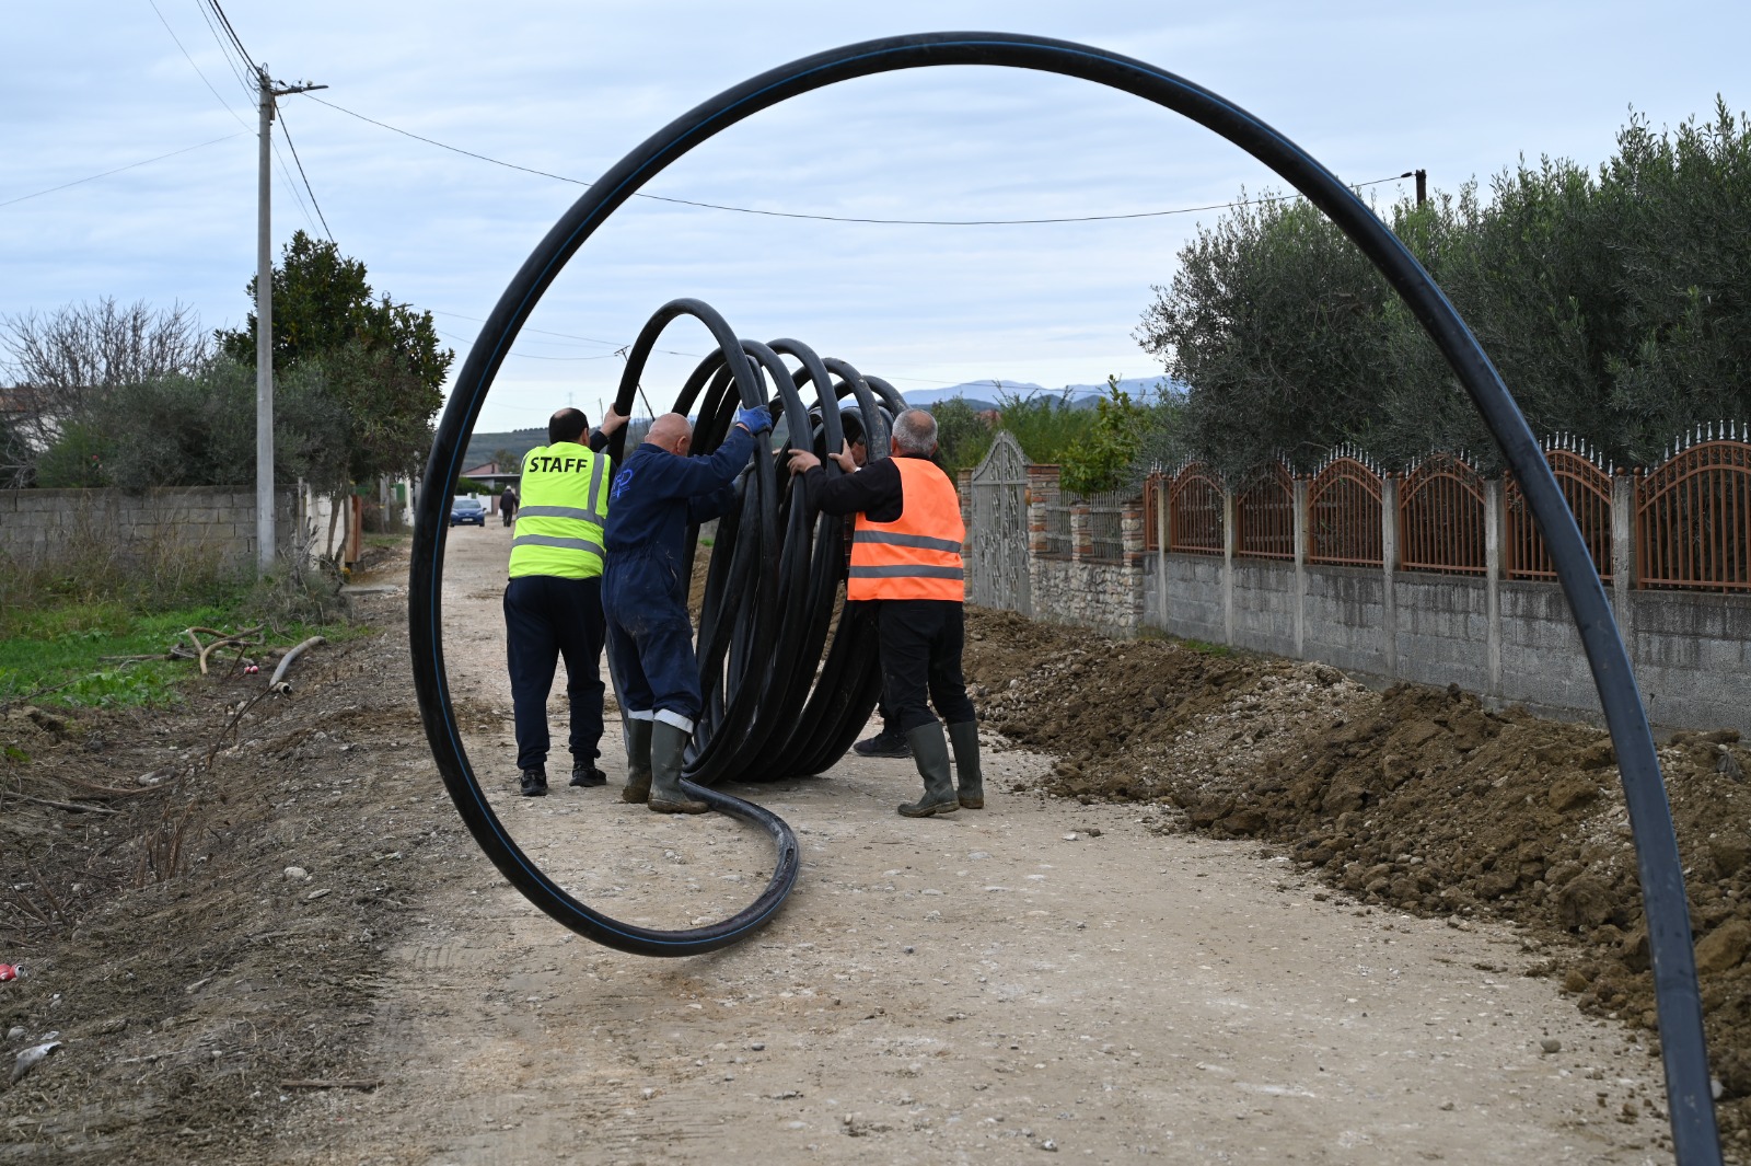
{"label": "pale gravelly dirt road beneath the workers and pipe coil", "polygon": [[[721,917],[763,884],[763,840],[623,805],[616,748],[606,790],[513,797],[508,537],[459,529],[445,565],[445,653],[497,811],[592,905]],[[1658,1061],[1522,975],[1508,924],[1361,907],[1257,842],[1009,793],[1052,760],[988,746],[982,812],[898,818],[904,762],[735,790],[795,826],[802,877],[772,926],[711,956],[595,947],[485,860],[450,865],[376,984],[355,1063],[385,1085],[289,1103],[285,1157],[1670,1159]]]}

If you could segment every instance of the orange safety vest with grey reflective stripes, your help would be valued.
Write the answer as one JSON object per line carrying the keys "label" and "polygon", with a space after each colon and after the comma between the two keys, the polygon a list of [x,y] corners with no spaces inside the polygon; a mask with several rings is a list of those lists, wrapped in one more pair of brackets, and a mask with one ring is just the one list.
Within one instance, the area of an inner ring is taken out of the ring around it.
{"label": "orange safety vest with grey reflective stripes", "polygon": [[897,457],[902,508],[898,522],[858,515],[851,534],[846,599],[967,597],[961,565],[961,501],[949,476],[923,457]]}

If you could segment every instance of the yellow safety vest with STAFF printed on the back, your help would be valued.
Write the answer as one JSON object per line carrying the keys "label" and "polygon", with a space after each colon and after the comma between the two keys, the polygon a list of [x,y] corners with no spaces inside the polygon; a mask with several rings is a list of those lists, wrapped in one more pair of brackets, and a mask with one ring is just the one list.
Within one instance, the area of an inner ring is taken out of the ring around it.
{"label": "yellow safety vest with STAFF printed on the back", "polygon": [[608,523],[608,453],[559,441],[524,455],[522,502],[511,537],[511,578],[553,574],[588,579],[602,574],[602,527]]}

